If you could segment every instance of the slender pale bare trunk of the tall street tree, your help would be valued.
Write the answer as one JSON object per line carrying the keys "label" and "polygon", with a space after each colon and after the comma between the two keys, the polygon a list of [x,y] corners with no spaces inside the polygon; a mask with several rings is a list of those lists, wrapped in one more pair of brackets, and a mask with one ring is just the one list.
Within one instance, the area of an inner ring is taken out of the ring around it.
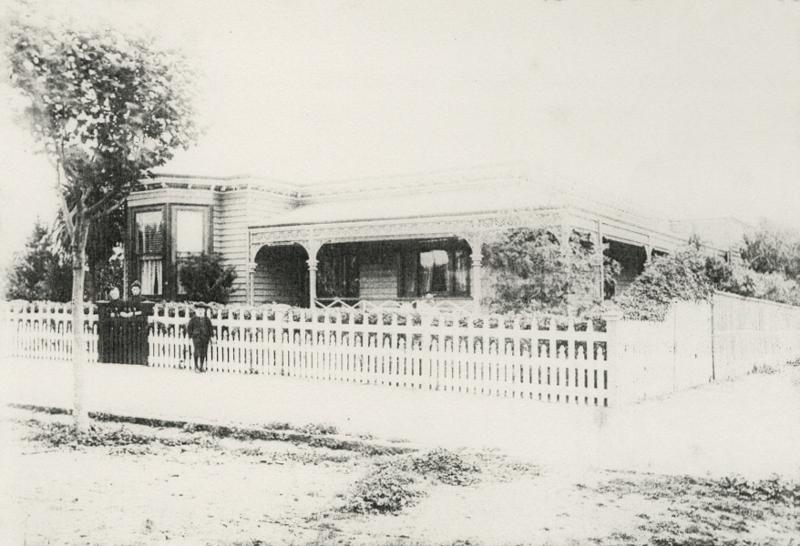
{"label": "slender pale bare trunk of the tall street tree", "polygon": [[85,219],[76,219],[72,240],[72,417],[78,430],[89,429],[86,407],[86,336],[83,331],[83,290],[86,280]]}

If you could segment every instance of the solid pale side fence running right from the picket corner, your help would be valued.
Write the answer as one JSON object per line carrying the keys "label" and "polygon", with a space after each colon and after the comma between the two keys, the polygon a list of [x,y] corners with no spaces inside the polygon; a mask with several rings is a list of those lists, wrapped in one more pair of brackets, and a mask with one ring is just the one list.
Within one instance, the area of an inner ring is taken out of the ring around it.
{"label": "solid pale side fence running right from the picket corner", "polygon": [[615,404],[800,358],[800,307],[718,292],[674,303],[663,321],[608,320]]}

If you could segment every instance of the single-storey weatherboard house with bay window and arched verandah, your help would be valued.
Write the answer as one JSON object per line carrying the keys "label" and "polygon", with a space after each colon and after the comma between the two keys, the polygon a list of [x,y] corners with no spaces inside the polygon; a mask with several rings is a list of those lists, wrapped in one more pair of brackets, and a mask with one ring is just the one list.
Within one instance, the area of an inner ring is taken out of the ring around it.
{"label": "single-storey weatherboard house with bay window and arched verandah", "polygon": [[[616,290],[653,254],[684,246],[692,226],[521,174],[394,177],[295,185],[253,177],[160,174],[128,205],[128,282],[152,299],[183,297],[180,263],[216,252],[236,269],[231,302],[327,306],[481,300],[481,245],[508,227],[588,233],[622,265]],[[701,225],[741,231],[732,219]],[[701,233],[702,236],[702,233]],[[717,237],[717,240],[723,238]],[[734,259],[736,238],[708,250]],[[485,282],[485,281],[484,281]],[[598,267],[598,295],[604,294]],[[607,296],[607,294],[606,294]]]}

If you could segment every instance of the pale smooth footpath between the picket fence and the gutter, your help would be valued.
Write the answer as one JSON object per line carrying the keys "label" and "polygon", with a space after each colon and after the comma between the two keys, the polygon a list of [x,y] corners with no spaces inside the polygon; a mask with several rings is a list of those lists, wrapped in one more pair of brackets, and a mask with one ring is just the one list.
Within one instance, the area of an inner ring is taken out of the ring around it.
{"label": "pale smooth footpath between the picket fence and the gutter", "polygon": [[[624,408],[117,364],[88,367],[90,411],[218,424],[324,423],[541,464],[800,478],[800,367]],[[69,408],[71,365],[0,361],[0,402]]]}

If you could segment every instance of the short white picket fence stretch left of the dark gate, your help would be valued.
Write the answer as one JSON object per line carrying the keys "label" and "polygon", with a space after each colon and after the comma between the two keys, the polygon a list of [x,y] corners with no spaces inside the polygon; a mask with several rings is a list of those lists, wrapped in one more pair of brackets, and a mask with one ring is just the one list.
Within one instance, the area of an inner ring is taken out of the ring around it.
{"label": "short white picket fence stretch left of the dark gate", "polygon": [[[83,306],[86,354],[97,361],[97,307]],[[72,358],[72,304],[50,301],[0,303],[0,354],[40,360]]]}

